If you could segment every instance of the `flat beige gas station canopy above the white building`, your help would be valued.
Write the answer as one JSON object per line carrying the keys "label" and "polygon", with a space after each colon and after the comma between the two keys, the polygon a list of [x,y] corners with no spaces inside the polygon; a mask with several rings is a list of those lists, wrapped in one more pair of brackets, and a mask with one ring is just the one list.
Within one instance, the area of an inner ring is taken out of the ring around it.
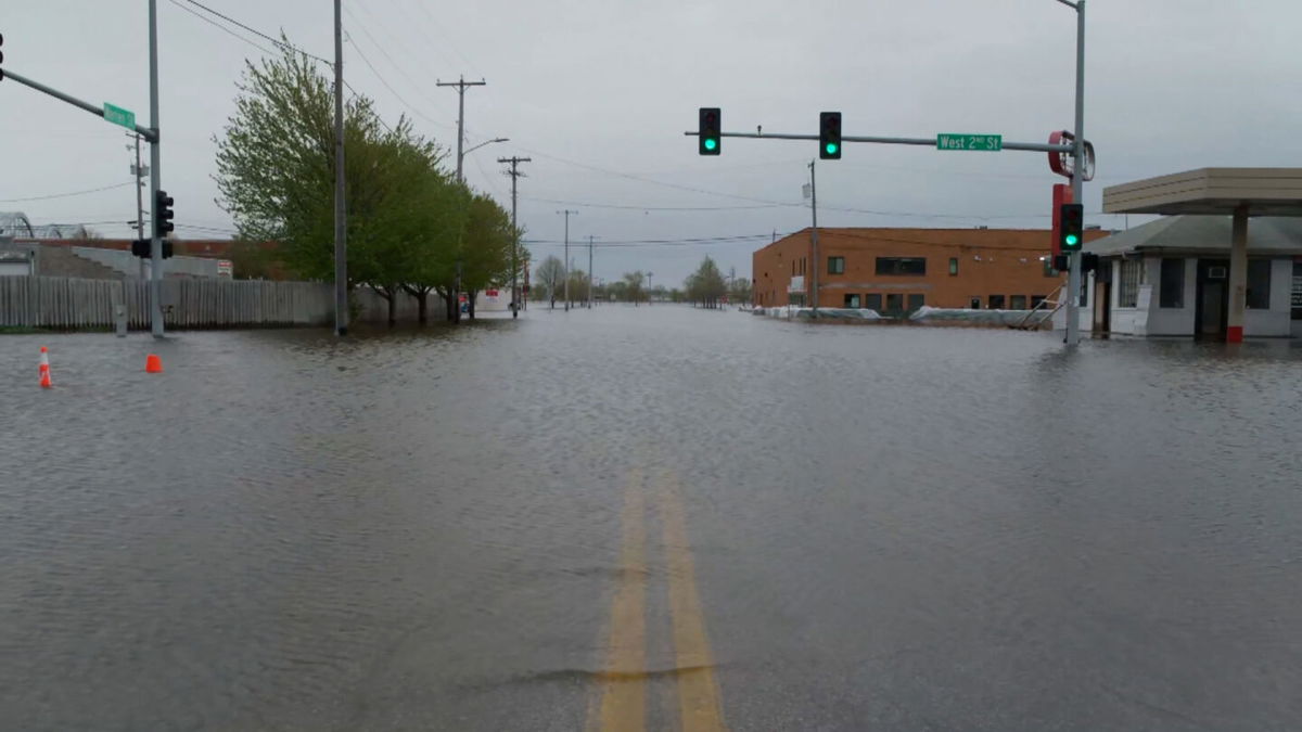
{"label": "flat beige gas station canopy above the white building", "polygon": [[1200,168],[1115,185],[1103,212],[1302,216],[1302,168]]}

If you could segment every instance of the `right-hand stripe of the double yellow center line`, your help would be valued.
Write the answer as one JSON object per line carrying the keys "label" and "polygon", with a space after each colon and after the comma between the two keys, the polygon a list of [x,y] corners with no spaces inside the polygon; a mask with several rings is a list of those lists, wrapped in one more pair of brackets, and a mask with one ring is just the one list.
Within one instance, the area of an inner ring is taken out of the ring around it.
{"label": "right-hand stripe of the double yellow center line", "polygon": [[677,479],[671,475],[665,475],[660,486],[660,522],[664,526],[664,551],[669,569],[669,612],[673,616],[682,732],[723,732],[727,727],[697,590],[687,521]]}

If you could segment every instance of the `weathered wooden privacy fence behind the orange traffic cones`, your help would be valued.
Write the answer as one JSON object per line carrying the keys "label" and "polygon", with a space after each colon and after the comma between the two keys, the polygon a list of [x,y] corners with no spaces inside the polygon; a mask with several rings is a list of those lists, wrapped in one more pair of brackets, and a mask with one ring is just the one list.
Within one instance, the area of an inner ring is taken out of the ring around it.
{"label": "weathered wooden privacy fence behind the orange traffic cones", "polygon": [[[172,328],[320,326],[335,317],[333,289],[324,283],[164,280],[164,323]],[[0,276],[0,326],[112,328],[126,303],[132,328],[150,326],[148,281]]]}

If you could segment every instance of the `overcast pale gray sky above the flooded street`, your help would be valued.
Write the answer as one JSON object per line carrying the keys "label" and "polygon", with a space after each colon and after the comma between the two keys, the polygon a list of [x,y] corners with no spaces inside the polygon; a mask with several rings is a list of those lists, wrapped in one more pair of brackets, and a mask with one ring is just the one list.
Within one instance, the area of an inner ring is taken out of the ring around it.
{"label": "overcast pale gray sky above the flooded street", "polygon": [[[201,0],[253,29],[332,57],[329,0]],[[812,142],[725,139],[700,158],[697,108],[723,108],[724,128],[815,133],[823,109],[846,134],[930,137],[1001,133],[1042,142],[1072,126],[1073,12],[1055,0],[344,0],[345,76],[396,120],[448,147],[456,92],[435,79],[486,78],[466,94],[466,177],[509,206],[499,156],[534,162],[521,181],[533,240],[723,238],[790,232]],[[204,22],[187,0],[159,0],[164,188],[178,233],[224,236],[214,202],[215,146],[233,109],[243,60],[262,51]],[[207,16],[263,47],[250,33]],[[1295,0],[1090,0],[1086,137],[1099,155],[1086,186],[1204,165],[1302,165],[1302,55]],[[5,0],[4,66],[92,103],[148,119],[146,0]],[[375,70],[368,68],[365,56]],[[328,69],[323,65],[323,73]],[[376,74],[378,72],[378,74]],[[383,78],[383,81],[381,81]],[[392,89],[389,89],[392,87]],[[0,82],[0,211],[34,223],[95,224],[128,236],[125,130],[13,81]],[[820,224],[1044,227],[1046,156],[849,145],[819,164]],[[694,190],[687,190],[694,189]],[[673,210],[690,208],[690,210]],[[836,211],[855,208],[858,211]],[[1115,216],[1090,223],[1120,228]],[[1130,221],[1131,225],[1135,220]],[[210,227],[197,229],[187,227]],[[651,270],[678,284],[706,253],[750,274],[763,240],[604,247],[595,274]],[[534,244],[535,259],[559,246]],[[578,255],[578,253],[575,253]],[[586,251],[579,266],[586,268]]]}

